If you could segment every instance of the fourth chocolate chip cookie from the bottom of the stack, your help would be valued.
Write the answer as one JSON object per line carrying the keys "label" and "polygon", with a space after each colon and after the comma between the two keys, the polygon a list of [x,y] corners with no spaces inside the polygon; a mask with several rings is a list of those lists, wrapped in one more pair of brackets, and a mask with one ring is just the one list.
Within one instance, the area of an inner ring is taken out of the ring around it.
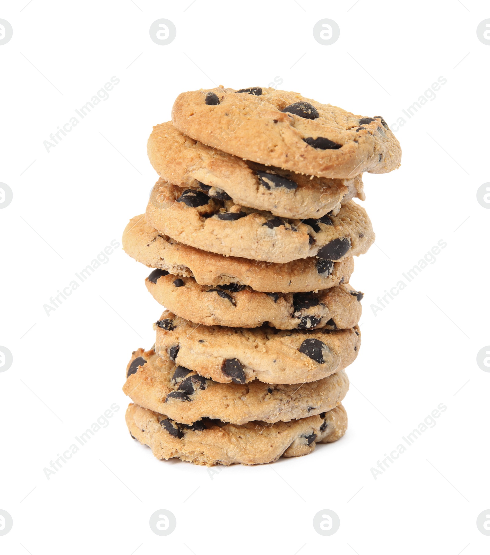
{"label": "fourth chocolate chip cookie from the bottom of the stack", "polygon": [[341,330],[355,326],[362,310],[363,294],[345,284],[316,293],[263,293],[236,283],[199,285],[194,278],[160,269],[153,270],[145,284],[154,299],[174,314],[206,326],[268,323],[279,330]]}

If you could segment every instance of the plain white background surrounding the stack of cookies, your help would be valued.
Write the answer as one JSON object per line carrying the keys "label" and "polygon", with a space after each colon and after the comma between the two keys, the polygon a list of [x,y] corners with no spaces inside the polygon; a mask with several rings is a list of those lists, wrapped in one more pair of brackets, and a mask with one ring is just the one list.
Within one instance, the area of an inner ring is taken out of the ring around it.
{"label": "plain white background surrounding the stack of cookies", "polygon": [[[0,46],[0,181],[13,190],[0,210],[0,345],[13,353],[0,374],[0,508],[13,518],[0,551],[488,553],[476,527],[490,507],[490,374],[476,364],[490,344],[490,211],[476,199],[490,181],[490,46],[476,34],[488,4],[25,3],[0,12],[13,27]],[[159,18],[177,29],[168,46],[149,37]],[[312,35],[322,18],[340,26],[331,46]],[[48,153],[43,141],[113,75],[110,97]],[[405,117],[441,75],[437,97]],[[364,178],[376,244],[351,279],[365,298],[350,426],[341,441],[274,465],[210,472],[158,461],[130,439],[121,391],[131,351],[153,344],[161,312],[144,286],[149,270],[119,248],[49,316],[43,305],[144,211],[156,180],[147,138],[176,95],[276,76],[280,88],[390,126],[406,120],[401,168]],[[435,263],[374,315],[377,297],[441,239]],[[109,425],[47,480],[43,468],[112,403]],[[437,424],[375,480],[371,467],[440,403]],[[177,526],[159,537],[148,521],[163,508]],[[322,509],[340,517],[333,536],[312,527]]]}

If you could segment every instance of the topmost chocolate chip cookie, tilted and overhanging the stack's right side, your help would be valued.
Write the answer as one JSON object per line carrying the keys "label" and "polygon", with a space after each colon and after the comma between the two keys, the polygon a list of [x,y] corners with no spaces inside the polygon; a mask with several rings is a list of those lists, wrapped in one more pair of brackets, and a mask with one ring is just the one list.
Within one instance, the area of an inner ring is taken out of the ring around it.
{"label": "topmost chocolate chip cookie, tilted and overhanging the stack's right side", "polygon": [[296,173],[352,178],[400,166],[400,144],[381,116],[361,117],[284,90],[181,93],[172,122],[211,147]]}

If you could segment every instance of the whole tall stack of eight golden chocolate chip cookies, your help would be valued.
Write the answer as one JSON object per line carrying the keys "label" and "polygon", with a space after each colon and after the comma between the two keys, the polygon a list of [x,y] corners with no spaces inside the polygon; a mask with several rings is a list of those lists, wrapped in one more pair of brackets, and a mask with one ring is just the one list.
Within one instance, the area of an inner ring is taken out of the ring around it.
{"label": "whole tall stack of eight golden chocolate chip cookies", "polygon": [[127,367],[132,437],[199,465],[307,455],[347,428],[362,173],[400,165],[380,116],[282,90],[196,90],[148,140],[160,179],[123,246],[165,311]]}

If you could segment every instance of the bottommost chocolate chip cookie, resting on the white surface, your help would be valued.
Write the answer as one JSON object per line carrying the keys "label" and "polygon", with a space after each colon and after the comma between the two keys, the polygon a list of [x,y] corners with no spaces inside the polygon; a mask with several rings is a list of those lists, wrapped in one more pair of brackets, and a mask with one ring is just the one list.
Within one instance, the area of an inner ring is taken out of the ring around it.
{"label": "bottommost chocolate chip cookie, resting on the white surface", "polygon": [[132,437],[148,445],[159,459],[180,458],[205,466],[260,465],[281,456],[308,455],[316,443],[339,440],[347,430],[347,413],[339,405],[290,422],[254,421],[238,426],[203,418],[189,426],[130,403],[126,423]]}

